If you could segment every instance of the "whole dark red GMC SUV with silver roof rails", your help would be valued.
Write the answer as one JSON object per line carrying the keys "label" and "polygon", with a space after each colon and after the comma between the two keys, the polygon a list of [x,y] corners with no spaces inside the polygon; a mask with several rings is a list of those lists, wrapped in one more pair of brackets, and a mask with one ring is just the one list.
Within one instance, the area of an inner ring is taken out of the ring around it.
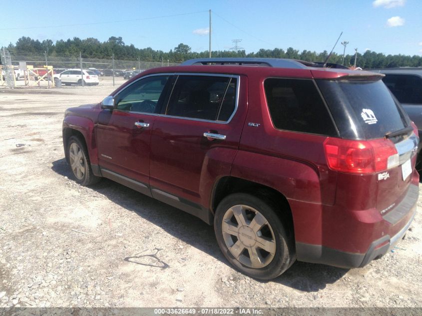
{"label": "whole dark red GMC SUV with silver roof rails", "polygon": [[419,194],[418,130],[382,77],[289,59],[150,69],[66,110],[65,156],[82,185],[106,177],[214,225],[254,278],[296,259],[363,267]]}

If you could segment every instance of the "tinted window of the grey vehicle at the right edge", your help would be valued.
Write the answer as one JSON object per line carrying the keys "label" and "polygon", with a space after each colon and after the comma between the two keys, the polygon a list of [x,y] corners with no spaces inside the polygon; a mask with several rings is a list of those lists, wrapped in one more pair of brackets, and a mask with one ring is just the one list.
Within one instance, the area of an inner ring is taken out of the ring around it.
{"label": "tinted window of the grey vehicle at the right edge", "polygon": [[384,83],[400,103],[422,104],[422,79],[414,75],[386,74]]}

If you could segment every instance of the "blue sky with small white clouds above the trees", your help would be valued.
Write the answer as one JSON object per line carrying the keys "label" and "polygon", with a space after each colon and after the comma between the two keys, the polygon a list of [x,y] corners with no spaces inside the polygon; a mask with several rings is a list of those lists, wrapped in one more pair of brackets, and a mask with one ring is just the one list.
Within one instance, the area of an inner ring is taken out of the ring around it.
{"label": "blue sky with small white clouds above the trees", "polygon": [[340,42],[349,41],[349,54],[355,48],[422,54],[422,0],[10,0],[2,5],[0,46],[21,36],[54,42],[122,36],[138,48],[168,51],[183,42],[203,51],[208,50],[209,9],[213,50],[229,49],[232,39],[242,39],[238,45],[247,52],[290,46],[330,51],[343,31],[338,53],[343,53]]}

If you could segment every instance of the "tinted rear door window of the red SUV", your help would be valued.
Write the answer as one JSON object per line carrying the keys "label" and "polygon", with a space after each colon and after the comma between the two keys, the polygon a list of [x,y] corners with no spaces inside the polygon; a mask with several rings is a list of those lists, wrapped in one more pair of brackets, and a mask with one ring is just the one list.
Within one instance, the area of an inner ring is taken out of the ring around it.
{"label": "tinted rear door window of the red SUV", "polygon": [[[226,120],[233,112],[231,106],[234,96],[224,97],[231,78],[217,76],[178,77],[167,107],[166,114],[205,120]],[[235,82],[234,82],[235,84]],[[224,103],[224,109],[221,108]],[[220,108],[222,111],[220,111]]]}

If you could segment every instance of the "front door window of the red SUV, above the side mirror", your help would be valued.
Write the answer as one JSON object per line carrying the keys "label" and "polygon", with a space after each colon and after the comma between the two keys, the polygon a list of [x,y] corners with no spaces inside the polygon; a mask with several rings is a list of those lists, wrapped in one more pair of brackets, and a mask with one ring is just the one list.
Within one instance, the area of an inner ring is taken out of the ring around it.
{"label": "front door window of the red SUV, above the side mirror", "polygon": [[141,79],[121,91],[116,98],[116,109],[154,113],[168,76]]}

